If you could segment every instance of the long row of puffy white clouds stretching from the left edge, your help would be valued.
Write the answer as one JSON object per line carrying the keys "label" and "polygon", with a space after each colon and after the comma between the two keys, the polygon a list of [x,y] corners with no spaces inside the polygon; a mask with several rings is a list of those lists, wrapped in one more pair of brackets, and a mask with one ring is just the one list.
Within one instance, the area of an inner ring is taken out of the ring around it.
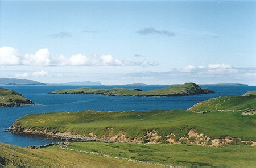
{"label": "long row of puffy white clouds stretching from the left edge", "polygon": [[71,57],[63,55],[52,57],[47,48],[39,49],[35,54],[20,56],[12,47],[0,48],[0,65],[36,65],[36,66],[157,66],[158,62],[150,63],[148,60],[133,62],[118,60],[112,55],[85,56],[74,54]]}

